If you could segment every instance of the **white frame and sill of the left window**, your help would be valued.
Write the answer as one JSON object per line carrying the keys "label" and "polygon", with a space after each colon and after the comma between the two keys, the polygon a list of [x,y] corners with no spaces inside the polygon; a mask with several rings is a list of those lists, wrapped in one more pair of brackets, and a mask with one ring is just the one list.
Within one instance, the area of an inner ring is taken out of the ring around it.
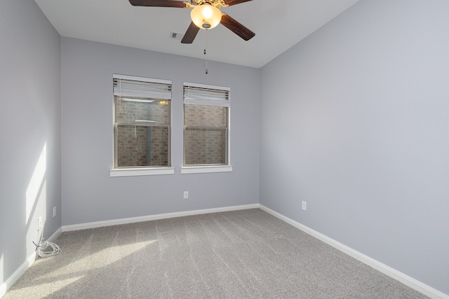
{"label": "white frame and sill of the left window", "polygon": [[[141,81],[141,82],[149,82],[149,83],[162,83],[162,84],[170,84],[172,85],[172,81],[170,80],[163,80],[163,79],[155,79],[155,78],[145,78],[145,77],[138,77],[138,76],[127,76],[127,75],[120,75],[120,74],[114,74],[112,76],[112,79],[123,79],[123,80],[131,80],[131,81]],[[171,99],[170,99],[171,101]],[[115,100],[113,100],[113,109],[115,109]],[[113,118],[115,118],[115,111],[113,113]],[[172,113],[170,110],[170,128],[172,125]],[[116,120],[112,120],[112,127],[115,127]],[[116,144],[115,144],[115,137],[114,137],[114,130],[112,132],[113,138],[112,138],[112,168],[109,169],[109,176],[115,177],[115,176],[149,176],[149,175],[161,175],[161,174],[175,174],[175,168],[168,165],[168,167],[165,166],[158,166],[158,167],[115,167],[115,153],[116,151]],[[168,134],[168,160],[171,161],[171,134]],[[169,163],[170,164],[170,163]]]}

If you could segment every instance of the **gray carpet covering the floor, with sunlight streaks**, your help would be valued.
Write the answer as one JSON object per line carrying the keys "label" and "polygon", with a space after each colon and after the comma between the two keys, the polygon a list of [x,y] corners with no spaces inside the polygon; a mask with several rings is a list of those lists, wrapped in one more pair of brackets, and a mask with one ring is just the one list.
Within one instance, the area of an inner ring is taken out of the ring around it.
{"label": "gray carpet covering the floor, with sunlight streaks", "polygon": [[64,232],[11,298],[427,298],[260,209]]}

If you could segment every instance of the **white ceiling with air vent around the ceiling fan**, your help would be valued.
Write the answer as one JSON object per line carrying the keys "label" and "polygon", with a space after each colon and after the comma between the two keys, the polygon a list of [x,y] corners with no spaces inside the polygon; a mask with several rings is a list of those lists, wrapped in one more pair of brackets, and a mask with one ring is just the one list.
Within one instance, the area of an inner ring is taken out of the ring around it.
{"label": "white ceiling with air vent around the ceiling fan", "polygon": [[[34,0],[61,36],[204,58],[206,31],[194,43],[170,39],[190,24],[190,9],[131,6],[128,0]],[[218,25],[207,33],[208,60],[262,67],[358,0],[253,0],[221,11],[255,32],[243,41]]]}

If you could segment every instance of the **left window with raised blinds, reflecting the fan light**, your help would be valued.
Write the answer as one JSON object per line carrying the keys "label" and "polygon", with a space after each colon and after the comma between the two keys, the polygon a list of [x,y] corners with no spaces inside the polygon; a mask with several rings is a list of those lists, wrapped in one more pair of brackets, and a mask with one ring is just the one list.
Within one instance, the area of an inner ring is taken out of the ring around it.
{"label": "left window with raised blinds, reflecting the fan light", "polygon": [[170,167],[171,81],[114,75],[114,169]]}

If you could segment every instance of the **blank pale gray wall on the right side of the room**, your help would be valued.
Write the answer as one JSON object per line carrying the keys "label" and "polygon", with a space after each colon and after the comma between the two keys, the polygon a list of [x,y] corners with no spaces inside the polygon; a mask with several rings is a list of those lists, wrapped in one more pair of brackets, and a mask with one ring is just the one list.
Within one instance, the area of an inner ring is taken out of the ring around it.
{"label": "blank pale gray wall on the right side of the room", "polygon": [[448,57],[449,1],[362,0],[262,67],[260,203],[449,294]]}

